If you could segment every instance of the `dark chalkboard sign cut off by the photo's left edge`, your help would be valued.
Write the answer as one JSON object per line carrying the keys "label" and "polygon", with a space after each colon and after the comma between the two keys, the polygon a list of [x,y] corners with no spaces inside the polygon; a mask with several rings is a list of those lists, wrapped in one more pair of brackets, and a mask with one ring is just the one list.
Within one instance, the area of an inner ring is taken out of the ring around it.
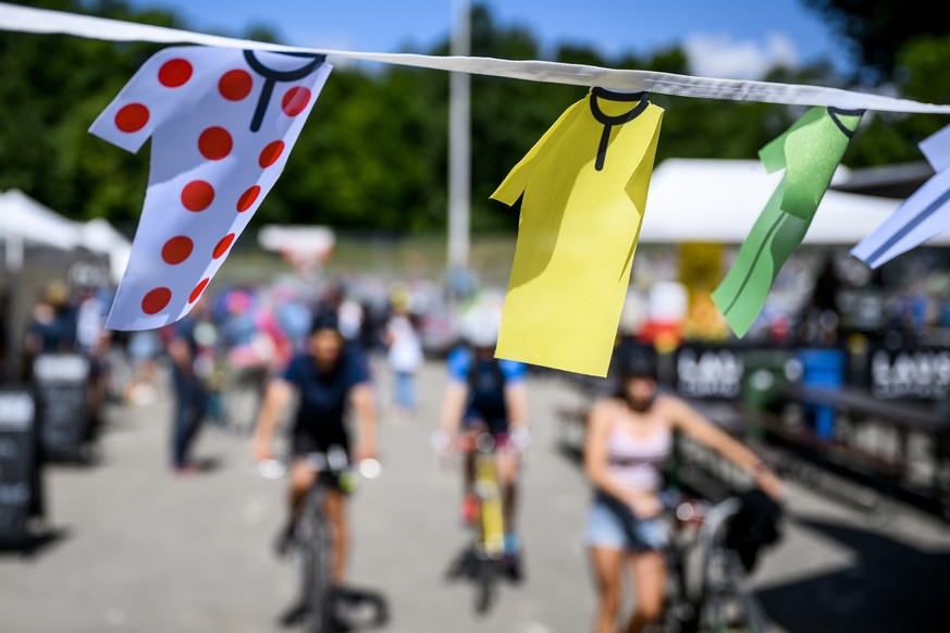
{"label": "dark chalkboard sign cut off by the photo's left edge", "polygon": [[0,388],[0,538],[26,535],[36,469],[36,415],[27,389]]}

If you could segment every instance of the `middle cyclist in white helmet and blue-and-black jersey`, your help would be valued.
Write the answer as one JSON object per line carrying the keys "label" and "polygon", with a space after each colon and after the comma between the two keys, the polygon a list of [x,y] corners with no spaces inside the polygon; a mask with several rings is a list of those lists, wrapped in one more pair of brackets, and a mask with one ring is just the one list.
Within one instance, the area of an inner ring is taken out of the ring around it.
{"label": "middle cyclist in white helmet and blue-and-black jersey", "polygon": [[[501,306],[477,305],[462,319],[466,345],[448,356],[448,386],[442,405],[436,448],[452,450],[459,432],[471,445],[480,432],[495,438],[497,473],[502,485],[505,518],[505,562],[509,575],[520,580],[520,544],[514,529],[516,484],[520,452],[528,443],[527,367],[495,358],[501,327]],[[474,520],[478,506],[472,485],[474,456],[465,455],[462,468],[462,519]]]}

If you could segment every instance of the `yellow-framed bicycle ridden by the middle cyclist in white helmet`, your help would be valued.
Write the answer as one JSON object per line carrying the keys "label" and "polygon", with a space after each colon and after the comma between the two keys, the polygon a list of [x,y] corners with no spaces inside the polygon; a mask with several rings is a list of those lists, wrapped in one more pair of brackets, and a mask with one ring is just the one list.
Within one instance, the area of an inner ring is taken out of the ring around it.
{"label": "yellow-framed bicycle ridden by the middle cyclist in white helmet", "polygon": [[474,582],[474,609],[489,611],[497,595],[498,579],[513,578],[505,560],[505,517],[502,486],[498,481],[496,449],[510,444],[506,434],[492,435],[488,431],[462,435],[456,443],[460,452],[474,455],[474,484],[477,501],[474,520],[470,523],[471,542],[452,562],[446,572],[449,581],[467,578]]}

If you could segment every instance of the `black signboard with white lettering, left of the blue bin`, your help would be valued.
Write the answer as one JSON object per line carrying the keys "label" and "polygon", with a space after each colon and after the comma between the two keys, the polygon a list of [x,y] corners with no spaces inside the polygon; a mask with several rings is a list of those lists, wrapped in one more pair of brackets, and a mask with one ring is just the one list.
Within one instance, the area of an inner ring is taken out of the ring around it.
{"label": "black signboard with white lettering, left of the blue bin", "polygon": [[682,346],[676,353],[676,392],[692,399],[738,398],[743,371],[739,349]]}

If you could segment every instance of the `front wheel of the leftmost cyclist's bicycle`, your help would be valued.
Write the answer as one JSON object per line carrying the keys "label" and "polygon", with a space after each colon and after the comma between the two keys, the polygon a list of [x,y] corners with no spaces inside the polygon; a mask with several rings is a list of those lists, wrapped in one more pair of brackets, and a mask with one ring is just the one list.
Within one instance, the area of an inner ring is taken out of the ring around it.
{"label": "front wheel of the leftmost cyclist's bicycle", "polygon": [[305,631],[330,633],[332,599],[330,583],[330,526],[323,517],[319,485],[308,495],[298,531],[301,604],[306,606]]}

